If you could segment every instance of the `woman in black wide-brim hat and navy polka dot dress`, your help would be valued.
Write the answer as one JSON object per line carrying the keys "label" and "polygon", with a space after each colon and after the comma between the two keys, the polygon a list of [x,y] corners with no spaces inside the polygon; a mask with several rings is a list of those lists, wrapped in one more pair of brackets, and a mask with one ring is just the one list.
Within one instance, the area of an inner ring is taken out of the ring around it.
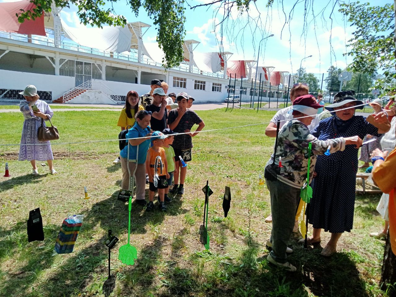
{"label": "woman in black wide-brim hat and navy polka dot dress", "polygon": [[[380,136],[385,133],[367,122],[364,116],[355,116],[356,109],[363,109],[363,102],[356,100],[354,95],[354,91],[337,93],[334,103],[325,107],[333,116],[320,121],[312,134],[325,140],[354,135],[363,139],[367,134]],[[385,114],[378,114],[376,119],[381,119],[377,122],[388,122]],[[317,175],[312,181],[313,197],[308,208],[308,222],[314,232],[308,243],[320,242],[322,229],[331,232],[331,239],[321,252],[323,256],[337,252],[341,234],[352,229],[358,150],[355,145],[346,145],[345,150],[318,156],[316,161]]]}

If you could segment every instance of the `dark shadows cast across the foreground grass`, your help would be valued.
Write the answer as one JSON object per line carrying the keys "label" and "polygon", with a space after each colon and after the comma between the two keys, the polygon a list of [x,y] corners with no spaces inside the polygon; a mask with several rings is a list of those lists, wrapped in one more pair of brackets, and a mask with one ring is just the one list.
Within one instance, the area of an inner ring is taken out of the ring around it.
{"label": "dark shadows cast across the foreground grass", "polygon": [[[103,232],[101,238],[93,236],[97,233],[95,230],[102,227],[111,228],[120,238],[112,251],[112,259],[117,257],[118,248],[126,244],[128,206],[116,200],[116,194],[118,191],[82,213],[86,217],[71,254],[52,256],[61,221],[59,225],[46,226],[44,242],[27,243],[25,221],[11,229],[0,230],[0,261],[4,261],[3,267],[7,269],[0,272],[0,295],[69,297],[84,292],[102,295],[101,286],[107,277],[107,249],[102,242],[107,232]],[[134,202],[131,233],[144,234],[148,223],[158,225],[168,215],[184,213],[181,206],[182,200],[176,198],[167,213],[157,209],[145,213],[143,207]],[[218,225],[220,232],[227,228],[223,222]],[[171,242],[158,232],[138,250],[134,266],[113,268],[112,273],[117,275],[114,295],[300,297],[310,292],[316,296],[367,296],[366,282],[360,278],[352,253],[337,253],[327,259],[320,256],[320,249],[304,250],[295,244],[289,260],[297,267],[297,272],[285,272],[268,265],[266,253],[257,259],[259,243],[254,238],[250,239],[250,248],[242,253],[197,251],[190,259],[185,259],[186,232],[187,229],[182,228],[173,234]],[[79,247],[79,242],[88,244]],[[169,244],[171,254],[165,257],[165,246]],[[186,260],[193,265],[187,267]]]}

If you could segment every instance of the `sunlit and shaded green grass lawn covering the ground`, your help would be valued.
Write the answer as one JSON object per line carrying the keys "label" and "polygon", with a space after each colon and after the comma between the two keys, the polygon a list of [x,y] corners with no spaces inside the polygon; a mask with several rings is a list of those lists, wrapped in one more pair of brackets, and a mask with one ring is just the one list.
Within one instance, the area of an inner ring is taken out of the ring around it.
{"label": "sunlit and shaded green grass lawn covering the ground", "polygon": [[[268,122],[274,112],[225,109],[198,111],[205,129]],[[322,247],[308,248],[293,236],[289,261],[297,272],[284,272],[267,263],[265,242],[271,224],[267,187],[258,185],[274,144],[264,136],[266,125],[201,133],[194,137],[193,161],[188,164],[183,198],[173,198],[166,213],[145,213],[132,204],[131,244],[138,250],[134,266],[118,261],[118,248],[127,243],[128,206],[116,199],[121,168],[112,161],[117,142],[56,145],[116,139],[118,111],[55,113],[61,138],[52,146],[57,175],[38,162],[17,161],[18,147],[0,147],[0,168],[9,162],[10,178],[0,177],[0,296],[103,296],[107,278],[107,248],[112,229],[120,241],[111,252],[116,275],[112,296],[384,296],[379,290],[384,241],[370,238],[382,228],[375,208],[379,196],[356,197],[354,229],[341,237],[339,253],[320,256]],[[3,113],[1,143],[19,143],[21,113]],[[209,180],[210,251],[199,242],[204,194]],[[341,182],[341,181],[340,181]],[[90,199],[84,200],[84,186]],[[224,218],[224,188],[232,201]],[[26,220],[40,207],[45,240],[27,242]],[[74,252],[53,255],[63,218],[84,214]],[[312,232],[312,228],[308,229]]]}

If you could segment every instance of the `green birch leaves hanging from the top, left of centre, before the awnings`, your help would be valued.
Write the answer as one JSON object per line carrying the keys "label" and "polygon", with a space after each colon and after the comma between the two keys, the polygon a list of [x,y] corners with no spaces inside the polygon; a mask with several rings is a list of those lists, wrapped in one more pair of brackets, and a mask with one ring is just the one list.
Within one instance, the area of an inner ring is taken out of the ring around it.
{"label": "green birch leaves hanging from the top, left of centre, before the awnings", "polygon": [[[118,0],[54,0],[58,8],[78,8],[77,15],[84,25],[101,28],[104,24],[109,26],[124,26],[126,19],[122,15],[114,15],[114,9],[104,8]],[[36,8],[18,13],[18,21],[35,19],[43,13],[51,12],[52,0],[31,0]],[[183,61],[183,42],[186,34],[184,28],[184,0],[127,0],[132,12],[139,15],[139,8],[144,8],[147,15],[153,20],[158,30],[157,42],[165,53],[164,67],[178,66]]]}

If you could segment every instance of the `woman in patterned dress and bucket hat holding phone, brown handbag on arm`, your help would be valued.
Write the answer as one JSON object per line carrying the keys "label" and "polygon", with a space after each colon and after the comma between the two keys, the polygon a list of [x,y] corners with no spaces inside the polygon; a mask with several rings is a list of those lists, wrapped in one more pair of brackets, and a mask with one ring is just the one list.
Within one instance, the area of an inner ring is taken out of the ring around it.
{"label": "woman in patterned dress and bucket hat holding phone, brown handbag on arm", "polygon": [[39,141],[37,137],[38,128],[41,126],[42,119],[45,120],[52,118],[53,112],[49,105],[40,100],[37,94],[37,89],[33,85],[29,85],[25,90],[19,93],[25,97],[19,103],[19,109],[23,113],[23,122],[21,145],[19,147],[19,161],[29,160],[32,164],[32,175],[38,175],[36,160],[47,161],[49,172],[57,174],[53,168],[52,150],[49,141]]}

